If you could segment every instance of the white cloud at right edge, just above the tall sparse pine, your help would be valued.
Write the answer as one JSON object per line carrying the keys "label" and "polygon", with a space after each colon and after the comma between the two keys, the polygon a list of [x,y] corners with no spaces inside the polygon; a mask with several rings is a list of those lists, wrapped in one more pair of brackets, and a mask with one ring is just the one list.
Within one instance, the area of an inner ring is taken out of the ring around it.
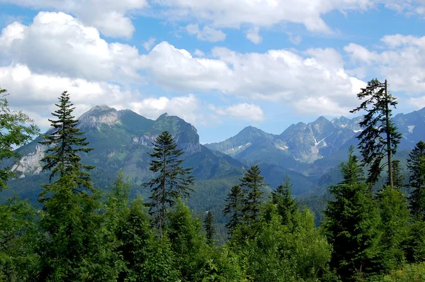
{"label": "white cloud at right edge, just above the tall sparse pine", "polygon": [[357,62],[378,72],[390,82],[393,91],[421,94],[425,91],[425,36],[386,35],[380,52],[351,43],[344,50]]}

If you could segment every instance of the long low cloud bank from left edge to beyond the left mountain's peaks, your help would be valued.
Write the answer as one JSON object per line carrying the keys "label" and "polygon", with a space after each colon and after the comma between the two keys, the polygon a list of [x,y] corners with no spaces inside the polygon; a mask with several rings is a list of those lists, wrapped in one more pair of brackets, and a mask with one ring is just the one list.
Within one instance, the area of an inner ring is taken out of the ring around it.
{"label": "long low cloud bank from left edge to beyond the left mountain's peaks", "polygon": [[1,87],[8,90],[11,108],[23,110],[45,130],[50,113],[56,110],[57,97],[63,91],[71,95],[77,117],[93,106],[106,103],[120,109],[129,108],[147,118],[158,118],[162,113],[179,115],[190,123],[203,122],[199,101],[193,94],[167,98],[142,98],[137,92],[123,90],[116,84],[69,79],[52,75],[34,74],[25,65],[0,67]]}

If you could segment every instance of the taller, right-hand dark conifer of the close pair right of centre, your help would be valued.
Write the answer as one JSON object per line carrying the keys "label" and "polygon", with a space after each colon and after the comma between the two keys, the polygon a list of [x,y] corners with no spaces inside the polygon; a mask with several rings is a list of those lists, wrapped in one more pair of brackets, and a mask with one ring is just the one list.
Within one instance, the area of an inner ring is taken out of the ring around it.
{"label": "taller, right-hand dark conifer of the close pair right of centre", "polygon": [[244,177],[239,179],[241,181],[242,192],[246,195],[244,197],[242,213],[244,213],[244,221],[248,224],[255,222],[260,213],[261,198],[263,197],[261,188],[266,186],[263,183],[264,177],[260,173],[261,171],[258,165],[252,166],[251,169],[246,171]]}

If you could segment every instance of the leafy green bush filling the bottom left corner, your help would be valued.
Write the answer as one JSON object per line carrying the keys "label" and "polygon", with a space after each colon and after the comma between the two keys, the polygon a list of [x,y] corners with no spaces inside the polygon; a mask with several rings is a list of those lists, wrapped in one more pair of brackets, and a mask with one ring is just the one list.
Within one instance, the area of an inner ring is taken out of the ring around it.
{"label": "leafy green bush filling the bottom left corner", "polygon": [[38,271],[37,213],[28,202],[11,198],[0,205],[0,281],[29,281]]}

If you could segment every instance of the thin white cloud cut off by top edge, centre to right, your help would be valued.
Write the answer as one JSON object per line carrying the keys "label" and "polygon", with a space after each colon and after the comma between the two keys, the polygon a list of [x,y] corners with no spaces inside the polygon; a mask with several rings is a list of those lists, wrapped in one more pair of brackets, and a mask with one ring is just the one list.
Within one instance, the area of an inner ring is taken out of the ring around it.
{"label": "thin white cloud cut off by top edge, centre to right", "polygon": [[240,28],[244,24],[270,27],[300,23],[307,30],[329,32],[322,19],[330,11],[365,11],[375,0],[152,0],[163,16],[174,20],[198,18],[217,28]]}

